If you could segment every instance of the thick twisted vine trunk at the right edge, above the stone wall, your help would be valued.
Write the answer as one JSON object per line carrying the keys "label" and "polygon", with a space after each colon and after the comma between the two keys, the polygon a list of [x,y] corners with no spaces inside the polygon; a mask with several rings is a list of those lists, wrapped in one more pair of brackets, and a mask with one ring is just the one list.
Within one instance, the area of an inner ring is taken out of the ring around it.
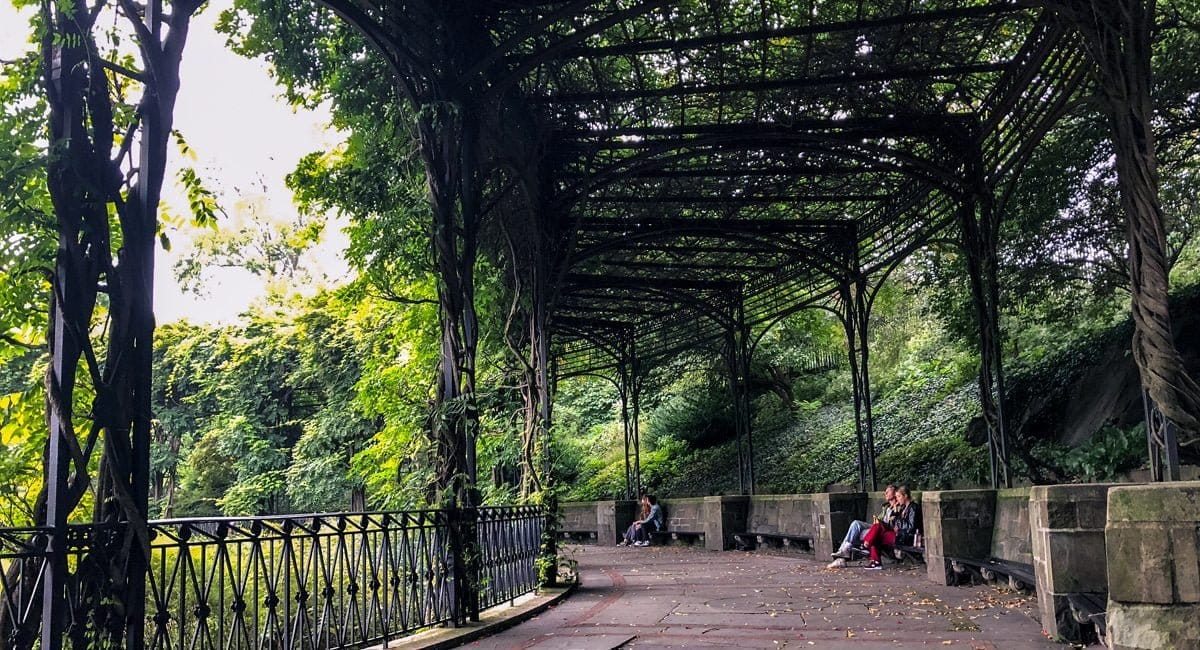
{"label": "thick twisted vine trunk at the right edge, above the stone wall", "polygon": [[1154,1],[1063,0],[1050,6],[1082,35],[1096,64],[1128,228],[1133,355],[1141,384],[1178,427],[1180,445],[1195,450],[1200,386],[1188,375],[1171,333],[1170,266],[1158,195],[1151,96]]}

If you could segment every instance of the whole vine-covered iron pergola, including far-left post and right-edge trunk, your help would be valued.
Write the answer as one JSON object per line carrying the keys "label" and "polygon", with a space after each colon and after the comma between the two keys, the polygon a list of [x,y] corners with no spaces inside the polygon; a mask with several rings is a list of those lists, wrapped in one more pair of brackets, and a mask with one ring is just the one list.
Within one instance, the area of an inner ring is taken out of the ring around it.
{"label": "whole vine-covered iron pergola, including far-left post and right-edge trunk", "polygon": [[[270,1],[281,16],[299,8]],[[157,205],[179,61],[200,2],[114,2],[144,71],[92,55],[103,4],[50,2],[42,14],[48,140],[61,152],[48,163],[60,242],[46,488],[35,517],[46,566],[28,574],[43,607],[18,632],[22,646],[36,637],[47,650],[62,645],[68,618],[89,607],[72,620],[98,620],[97,645],[145,643]],[[481,249],[503,251],[497,258],[518,299],[511,321],[521,323],[512,332],[528,353],[528,473],[538,471],[530,447],[548,435],[554,380],[604,375],[622,396],[634,494],[647,369],[708,347],[728,369],[740,486],[752,493],[748,375],[760,337],[800,309],[841,320],[859,487],[872,488],[871,305],[906,257],[954,240],[979,323],[991,482],[1007,486],[996,254],[1003,197],[1057,120],[1097,107],[1111,127],[1129,225],[1133,348],[1153,423],[1151,455],[1159,475],[1178,475],[1177,440],[1193,443],[1200,432],[1200,387],[1175,350],[1166,308],[1152,2],[320,4],[386,62],[415,122],[442,327],[431,434],[438,487],[454,494],[456,508],[479,505]],[[132,115],[116,115],[131,120],[118,127],[124,137],[114,128],[109,74],[146,90]],[[109,236],[113,211],[119,236]],[[88,336],[101,293],[109,306],[103,363]],[[79,437],[71,405],[84,372],[96,398],[91,431]],[[79,540],[67,520],[92,483],[89,463],[101,439],[92,522],[108,532],[89,547],[94,576],[70,588]],[[467,589],[473,579],[463,577]],[[12,631],[6,616],[0,626]]]}

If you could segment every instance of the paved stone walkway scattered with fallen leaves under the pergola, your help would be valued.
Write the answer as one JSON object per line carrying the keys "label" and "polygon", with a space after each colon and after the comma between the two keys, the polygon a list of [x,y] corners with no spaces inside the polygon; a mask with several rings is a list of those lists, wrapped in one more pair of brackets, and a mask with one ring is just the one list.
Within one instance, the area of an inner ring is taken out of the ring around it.
{"label": "paved stone walkway scattered with fallen leaves under the pergola", "polygon": [[827,570],[806,555],[569,547],[582,584],[541,615],[467,648],[1068,646],[1043,638],[1031,596],[938,586],[924,567]]}

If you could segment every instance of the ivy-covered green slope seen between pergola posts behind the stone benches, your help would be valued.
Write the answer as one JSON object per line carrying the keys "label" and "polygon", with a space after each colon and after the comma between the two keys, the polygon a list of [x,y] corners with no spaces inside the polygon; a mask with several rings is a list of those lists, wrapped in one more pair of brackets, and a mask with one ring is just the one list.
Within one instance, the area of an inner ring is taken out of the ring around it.
{"label": "ivy-covered green slope seen between pergola posts behind the stone benches", "polygon": [[[1198,372],[1200,290],[1181,291],[1172,311],[1180,314],[1177,343],[1189,368]],[[1127,319],[1080,326],[1045,349],[1010,360],[1008,404],[1018,482],[1112,480],[1145,465],[1141,397],[1128,353],[1130,332]],[[936,347],[912,353],[923,357]],[[943,361],[900,361],[901,369],[882,373],[883,386],[876,386],[874,405],[881,485],[929,489],[973,487],[988,480],[978,387],[971,372],[955,368],[948,357],[954,354],[947,353]],[[798,399],[791,409],[773,392],[763,391],[755,399],[756,492],[808,493],[857,483],[853,407],[844,390],[834,389],[845,383],[844,374],[844,369],[827,369],[804,378],[803,383],[828,390],[810,401]],[[709,402],[692,395],[689,404],[704,409]],[[703,426],[697,422],[703,422],[704,414],[656,419],[655,409],[649,410],[643,419],[649,431],[643,433],[642,452],[648,490],[668,496],[739,492],[733,440],[728,435],[714,440],[716,435],[707,431],[727,429],[715,426],[727,416],[708,415],[714,427],[697,434],[656,425]],[[611,441],[620,440],[613,423],[595,431],[605,432]],[[569,481],[569,498],[618,496],[624,488],[620,450],[596,453],[599,439],[583,439],[593,446],[586,467]]]}

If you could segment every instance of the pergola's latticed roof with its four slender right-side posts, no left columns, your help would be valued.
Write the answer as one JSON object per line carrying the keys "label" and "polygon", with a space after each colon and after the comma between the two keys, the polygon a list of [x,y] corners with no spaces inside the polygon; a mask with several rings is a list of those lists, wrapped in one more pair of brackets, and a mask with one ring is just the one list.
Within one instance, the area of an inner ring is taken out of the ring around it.
{"label": "pergola's latticed roof with its four slender right-side posts, no left columns", "polygon": [[644,373],[697,345],[725,359],[739,486],[754,492],[750,355],[805,308],[845,326],[859,486],[874,489],[871,303],[901,260],[948,234],[972,260],[991,480],[1009,483],[995,197],[1085,86],[1084,49],[1055,12],[960,1],[474,10],[476,24],[509,32],[475,53],[467,68],[479,78],[460,85],[508,95],[456,106],[528,115],[479,121],[526,143],[509,163],[535,186],[517,199],[536,247],[522,259],[553,278],[523,283],[544,305],[534,338],[552,338],[558,377],[619,384],[634,414],[623,416],[630,495]]}

